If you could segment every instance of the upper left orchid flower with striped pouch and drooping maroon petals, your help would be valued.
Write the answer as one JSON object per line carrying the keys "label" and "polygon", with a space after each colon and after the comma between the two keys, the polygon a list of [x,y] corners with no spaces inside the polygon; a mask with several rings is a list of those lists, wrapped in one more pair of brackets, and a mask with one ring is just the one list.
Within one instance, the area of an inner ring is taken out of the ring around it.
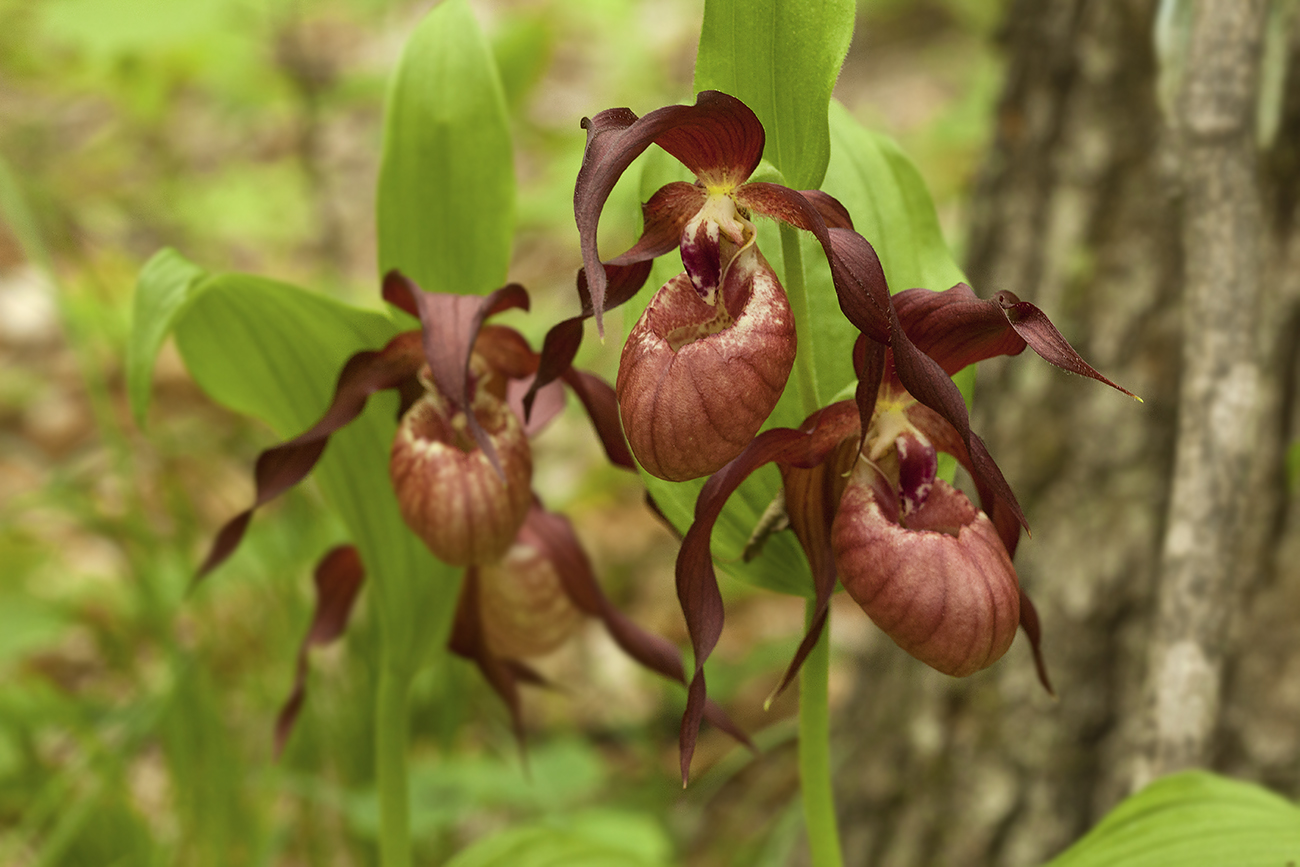
{"label": "upper left orchid flower with striped pouch and drooping maroon petals", "polygon": [[[536,373],[537,356],[517,331],[485,326],[484,320],[526,309],[528,292],[514,283],[486,296],[426,292],[393,272],[384,281],[384,298],[419,317],[421,329],[348,359],[321,420],[257,458],[256,500],[221,528],[200,577],[235,550],[254,510],[306,478],[330,435],[385,389],[402,395],[390,474],[411,529],[452,565],[495,562],[512,545],[532,503],[532,458],[525,426],[507,402],[520,399],[523,386],[511,395],[511,383]],[[610,459],[630,465],[608,385],[572,369],[564,380],[592,415]],[[559,387],[549,387],[551,413],[533,419],[533,429],[558,409]]]}

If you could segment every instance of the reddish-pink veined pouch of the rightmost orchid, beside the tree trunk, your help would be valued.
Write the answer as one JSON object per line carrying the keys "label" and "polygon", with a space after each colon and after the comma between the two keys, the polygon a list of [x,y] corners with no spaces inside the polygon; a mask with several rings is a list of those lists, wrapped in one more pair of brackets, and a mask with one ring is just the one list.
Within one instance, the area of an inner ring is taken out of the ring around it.
{"label": "reddish-pink veined pouch of the rightmost orchid, beside the tree trunk", "polygon": [[954,677],[992,666],[1020,617],[1019,582],[997,530],[944,481],[919,506],[905,506],[878,467],[858,463],[832,528],[840,580],[923,663]]}

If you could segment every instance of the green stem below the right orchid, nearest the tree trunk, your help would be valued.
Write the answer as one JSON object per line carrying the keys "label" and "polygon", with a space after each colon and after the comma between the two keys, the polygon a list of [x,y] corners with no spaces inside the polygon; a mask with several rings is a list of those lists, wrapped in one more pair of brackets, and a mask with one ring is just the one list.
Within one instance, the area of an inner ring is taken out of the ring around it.
{"label": "green stem below the right orchid, nearest the tree trunk", "polygon": [[[807,621],[814,602],[807,603]],[[831,790],[831,621],[803,660],[800,672],[800,789],[803,793],[803,824],[807,827],[812,867],[842,867],[840,829],[835,820]]]}

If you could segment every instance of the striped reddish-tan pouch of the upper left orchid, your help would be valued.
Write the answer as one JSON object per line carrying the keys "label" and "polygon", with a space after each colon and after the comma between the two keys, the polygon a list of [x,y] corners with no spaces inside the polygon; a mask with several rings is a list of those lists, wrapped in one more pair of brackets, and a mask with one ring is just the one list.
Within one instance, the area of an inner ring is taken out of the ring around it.
{"label": "striped reddish-tan pouch of the upper left orchid", "polygon": [[434,389],[404,416],[393,441],[389,474],[407,525],[439,560],[491,563],[510,550],[533,494],[533,459],[519,419],[478,390],[473,412],[497,450],[502,472]]}

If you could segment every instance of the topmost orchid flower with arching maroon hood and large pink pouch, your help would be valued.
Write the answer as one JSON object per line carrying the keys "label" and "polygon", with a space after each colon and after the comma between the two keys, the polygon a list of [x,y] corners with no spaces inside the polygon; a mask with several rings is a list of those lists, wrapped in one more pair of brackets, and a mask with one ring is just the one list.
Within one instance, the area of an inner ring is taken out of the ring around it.
{"label": "topmost orchid flower with arching maroon hood and large pink pouch", "polygon": [[[572,360],[581,320],[594,316],[603,328],[602,313],[645,281],[637,266],[680,248],[685,270],[655,294],[623,348],[619,409],[646,472],[670,481],[707,476],[762,428],[794,365],[794,317],[755,246],[751,214],[784,218],[815,211],[819,225],[849,226],[848,214],[823,192],[746,183],[763,156],[763,126],[725,94],[703,91],[694,105],[670,105],[641,118],[614,108],[582,125],[588,143],[573,211],[582,243],[584,315],[552,330],[542,367],[550,368],[552,355],[560,356],[556,369]],[[641,239],[601,263],[601,211],[619,177],[651,143],[697,181],[655,192],[644,207]]]}

